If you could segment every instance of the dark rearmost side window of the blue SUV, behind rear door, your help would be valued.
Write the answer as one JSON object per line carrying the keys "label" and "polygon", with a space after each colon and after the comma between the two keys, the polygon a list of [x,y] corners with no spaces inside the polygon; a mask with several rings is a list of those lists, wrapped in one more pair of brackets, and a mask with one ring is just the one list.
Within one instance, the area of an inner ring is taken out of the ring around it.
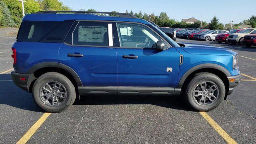
{"label": "dark rearmost side window of the blue SUV, behind rear door", "polygon": [[28,21],[22,41],[63,42],[73,22]]}

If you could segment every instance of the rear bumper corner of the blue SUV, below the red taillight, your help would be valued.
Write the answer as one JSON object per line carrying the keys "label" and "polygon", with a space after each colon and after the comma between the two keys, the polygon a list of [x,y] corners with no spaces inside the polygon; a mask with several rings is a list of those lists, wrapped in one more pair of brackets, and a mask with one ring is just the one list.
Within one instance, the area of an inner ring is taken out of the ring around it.
{"label": "rear bumper corner of the blue SUV, below the red taillight", "polygon": [[[11,76],[14,84],[27,92],[29,92],[30,84],[35,80],[34,74],[20,74],[12,71]],[[25,78],[25,80],[21,80],[21,78]]]}

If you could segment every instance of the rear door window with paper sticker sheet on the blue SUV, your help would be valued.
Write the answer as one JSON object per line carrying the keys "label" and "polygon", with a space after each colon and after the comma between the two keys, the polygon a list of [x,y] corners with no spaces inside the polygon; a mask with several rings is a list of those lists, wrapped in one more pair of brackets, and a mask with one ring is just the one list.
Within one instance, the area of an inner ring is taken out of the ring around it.
{"label": "rear door window with paper sticker sheet on the blue SUV", "polygon": [[72,38],[74,45],[108,46],[108,23],[80,21]]}

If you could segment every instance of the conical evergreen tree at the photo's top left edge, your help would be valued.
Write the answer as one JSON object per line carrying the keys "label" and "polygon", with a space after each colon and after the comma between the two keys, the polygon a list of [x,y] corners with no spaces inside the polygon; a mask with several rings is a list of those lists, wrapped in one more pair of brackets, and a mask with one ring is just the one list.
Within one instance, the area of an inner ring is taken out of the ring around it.
{"label": "conical evergreen tree at the photo's top left edge", "polygon": [[4,4],[3,0],[0,0],[0,27],[12,27],[14,26],[14,21],[12,20],[12,16]]}

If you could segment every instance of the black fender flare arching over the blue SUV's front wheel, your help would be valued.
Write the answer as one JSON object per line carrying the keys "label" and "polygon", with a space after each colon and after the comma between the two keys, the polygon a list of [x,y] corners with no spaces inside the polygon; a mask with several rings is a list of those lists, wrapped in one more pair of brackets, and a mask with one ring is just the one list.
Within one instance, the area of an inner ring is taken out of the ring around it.
{"label": "black fender flare arching over the blue SUV's front wheel", "polygon": [[230,72],[224,68],[223,66],[220,66],[218,64],[200,64],[200,65],[197,65],[197,66],[194,66],[193,68],[190,68],[183,76],[182,78],[180,79],[180,82],[178,83],[178,86],[177,88],[182,88],[182,85],[184,84],[186,78],[192,74],[193,72],[195,72],[196,70],[200,70],[200,69],[203,69],[203,68],[213,68],[213,69],[217,69],[217,70],[220,70],[221,72],[223,72],[224,74],[226,74],[226,76],[231,76]]}

